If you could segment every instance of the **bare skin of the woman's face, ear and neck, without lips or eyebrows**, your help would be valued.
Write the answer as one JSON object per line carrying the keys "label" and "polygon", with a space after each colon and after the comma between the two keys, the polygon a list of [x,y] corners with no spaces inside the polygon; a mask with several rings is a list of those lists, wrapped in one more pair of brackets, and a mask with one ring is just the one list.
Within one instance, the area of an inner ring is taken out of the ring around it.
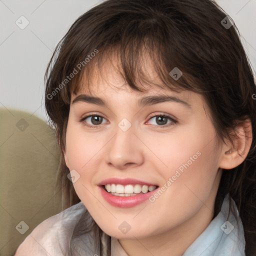
{"label": "bare skin of the woman's face, ear and neck, without lips or eyebrows", "polygon": [[[212,219],[221,168],[242,162],[250,140],[235,141],[243,157],[235,150],[227,154],[231,144],[217,143],[201,95],[157,86],[147,92],[131,90],[116,71],[116,62],[109,61],[101,70],[103,77],[95,70],[90,83],[91,95],[104,99],[107,106],[82,101],[70,104],[64,156],[67,167],[80,175],[74,189],[99,227],[118,238],[128,255],[182,255]],[[144,67],[150,80],[160,83],[151,62],[145,61]],[[90,93],[82,84],[71,95],[71,102],[79,94]],[[178,102],[138,105],[140,97],[156,94],[176,96],[191,107]],[[90,114],[103,117],[101,124],[94,124],[96,128],[86,126],[93,125],[91,117],[80,121]],[[160,125],[150,114],[165,114],[177,123],[168,120]],[[118,127],[123,118],[131,123],[125,132]],[[242,125],[239,130],[245,134]],[[105,201],[97,186],[106,178],[129,177],[161,187],[197,151],[200,156],[153,202],[119,208]],[[126,234],[118,228],[123,221],[130,225]]]}

